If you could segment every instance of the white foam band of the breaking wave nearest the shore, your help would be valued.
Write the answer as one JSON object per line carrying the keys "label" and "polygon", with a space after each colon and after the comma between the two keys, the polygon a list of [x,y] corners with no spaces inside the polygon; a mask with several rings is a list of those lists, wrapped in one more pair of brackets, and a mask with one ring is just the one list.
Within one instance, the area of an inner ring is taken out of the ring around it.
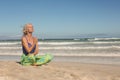
{"label": "white foam band of the breaking wave nearest the shore", "polygon": [[[38,53],[38,55],[44,55],[46,53]],[[105,53],[47,53],[47,54],[52,54],[54,56],[86,56],[86,57],[120,57],[120,54],[118,53],[109,53],[109,54],[105,54]],[[12,56],[20,56],[22,55],[21,53],[0,53],[0,56],[2,55],[12,55]]]}

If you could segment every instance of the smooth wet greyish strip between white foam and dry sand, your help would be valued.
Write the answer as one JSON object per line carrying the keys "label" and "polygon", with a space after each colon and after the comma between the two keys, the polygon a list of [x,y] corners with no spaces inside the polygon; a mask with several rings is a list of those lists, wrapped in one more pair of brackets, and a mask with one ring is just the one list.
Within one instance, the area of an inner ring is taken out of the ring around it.
{"label": "smooth wet greyish strip between white foam and dry sand", "polygon": [[[20,61],[20,55],[0,55],[0,61]],[[52,62],[78,62],[120,65],[119,56],[54,56]]]}

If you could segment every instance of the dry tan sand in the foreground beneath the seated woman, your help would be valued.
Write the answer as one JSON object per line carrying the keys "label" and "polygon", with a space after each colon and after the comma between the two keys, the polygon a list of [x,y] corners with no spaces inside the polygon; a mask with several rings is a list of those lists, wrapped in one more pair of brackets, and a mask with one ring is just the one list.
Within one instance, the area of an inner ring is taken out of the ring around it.
{"label": "dry tan sand in the foreground beneath the seated woman", "polygon": [[22,66],[0,61],[0,80],[120,80],[120,65],[51,62]]}

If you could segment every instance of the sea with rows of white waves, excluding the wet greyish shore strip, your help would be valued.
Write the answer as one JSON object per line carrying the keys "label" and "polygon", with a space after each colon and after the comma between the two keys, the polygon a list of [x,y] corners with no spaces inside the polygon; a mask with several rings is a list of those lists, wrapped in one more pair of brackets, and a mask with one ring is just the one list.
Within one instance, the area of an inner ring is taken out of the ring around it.
{"label": "sea with rows of white waves, excluding the wet greyish shore strip", "polygon": [[[120,56],[119,38],[45,39],[39,40],[39,54],[58,56]],[[0,54],[21,55],[20,40],[0,41]]]}

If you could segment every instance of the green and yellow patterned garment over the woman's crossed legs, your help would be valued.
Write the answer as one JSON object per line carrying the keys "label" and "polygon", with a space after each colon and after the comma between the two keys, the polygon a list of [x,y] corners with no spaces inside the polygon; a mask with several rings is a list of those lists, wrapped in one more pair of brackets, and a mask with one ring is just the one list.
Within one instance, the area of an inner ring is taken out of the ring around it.
{"label": "green and yellow patterned garment over the woman's crossed legs", "polygon": [[53,59],[53,56],[51,54],[45,54],[43,56],[33,55],[33,54],[30,54],[30,55],[22,54],[20,62],[22,65],[25,65],[25,66],[33,65],[33,64],[40,66],[50,62],[52,59]]}

